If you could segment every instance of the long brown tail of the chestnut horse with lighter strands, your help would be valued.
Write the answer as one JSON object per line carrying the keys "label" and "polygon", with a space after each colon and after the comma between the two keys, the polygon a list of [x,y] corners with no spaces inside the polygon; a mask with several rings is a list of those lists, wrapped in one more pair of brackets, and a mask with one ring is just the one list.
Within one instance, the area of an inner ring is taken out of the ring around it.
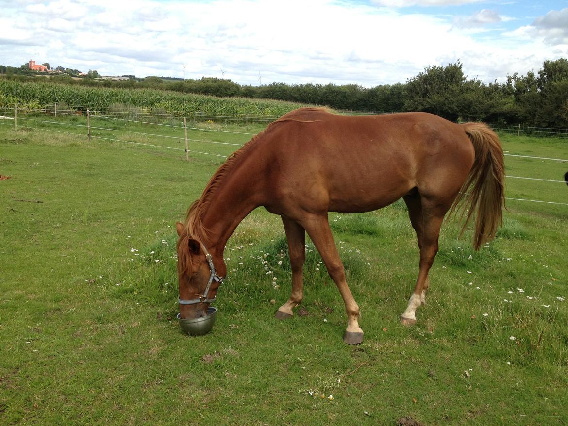
{"label": "long brown tail of the chestnut horse with lighter strands", "polygon": [[465,201],[461,207],[462,218],[466,218],[462,233],[474,217],[473,247],[479,250],[486,241],[495,237],[497,228],[503,224],[503,148],[499,137],[486,124],[464,123],[461,126],[473,144],[475,161],[454,201],[452,211],[456,210],[460,201]]}

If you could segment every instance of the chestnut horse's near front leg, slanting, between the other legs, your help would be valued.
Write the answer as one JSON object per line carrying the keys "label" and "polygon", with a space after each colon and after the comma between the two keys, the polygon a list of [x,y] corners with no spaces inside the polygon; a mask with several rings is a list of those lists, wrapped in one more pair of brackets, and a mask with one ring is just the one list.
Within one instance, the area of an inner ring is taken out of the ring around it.
{"label": "chestnut horse's near front leg, slanting, between the other legs", "polygon": [[360,344],[363,341],[363,330],[359,327],[359,306],[353,299],[353,295],[345,280],[343,262],[341,262],[335,241],[333,241],[327,214],[310,215],[303,223],[303,226],[318,249],[329,277],[336,283],[339,293],[341,293],[341,297],[345,302],[347,329],[343,335],[343,341],[349,345]]}

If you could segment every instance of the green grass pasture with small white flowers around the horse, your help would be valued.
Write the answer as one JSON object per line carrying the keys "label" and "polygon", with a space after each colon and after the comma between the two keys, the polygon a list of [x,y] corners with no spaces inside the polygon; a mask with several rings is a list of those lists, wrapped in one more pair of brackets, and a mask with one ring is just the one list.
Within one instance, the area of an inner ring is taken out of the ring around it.
{"label": "green grass pasture with small white flowers around the horse", "polygon": [[[0,181],[1,424],[568,422],[568,206],[508,200],[498,238],[479,252],[471,233],[446,223],[411,328],[398,322],[418,262],[404,204],[330,213],[361,307],[358,346],[341,339],[343,302],[310,242],[304,315],[273,318],[290,266],[279,218],[255,210],[228,242],[213,331],[188,337],[175,319],[175,222],[224,159],[186,161],[183,141],[165,137],[179,128],[95,119],[113,130],[94,135],[139,144],[89,143],[73,126],[85,118],[50,120],[67,124],[24,120],[41,130],[16,132],[0,122],[0,174],[11,177]],[[203,130],[190,139],[233,144],[251,136],[212,130],[262,129],[191,126]],[[510,154],[568,157],[566,139],[502,141]],[[562,180],[568,170],[525,157],[506,164],[519,177]],[[507,197],[568,203],[568,188],[508,178]]]}

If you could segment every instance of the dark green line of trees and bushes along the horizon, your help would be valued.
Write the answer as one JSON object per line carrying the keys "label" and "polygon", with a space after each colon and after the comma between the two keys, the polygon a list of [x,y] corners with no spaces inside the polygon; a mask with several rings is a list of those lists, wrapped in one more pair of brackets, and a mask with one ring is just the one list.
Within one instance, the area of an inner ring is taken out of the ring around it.
{"label": "dark green line of trees and bushes along the horizon", "polygon": [[151,76],[119,82],[101,81],[88,76],[81,80],[73,80],[64,75],[49,78],[53,82],[68,84],[173,90],[217,97],[275,99],[330,106],[340,110],[426,111],[452,121],[568,127],[566,59],[547,60],[537,73],[514,73],[509,75],[505,82],[494,81],[488,84],[477,78],[468,78],[463,73],[462,65],[457,61],[446,66],[428,66],[405,83],[370,88],[353,84],[289,85],[277,82],[250,86],[214,77],[170,80]]}

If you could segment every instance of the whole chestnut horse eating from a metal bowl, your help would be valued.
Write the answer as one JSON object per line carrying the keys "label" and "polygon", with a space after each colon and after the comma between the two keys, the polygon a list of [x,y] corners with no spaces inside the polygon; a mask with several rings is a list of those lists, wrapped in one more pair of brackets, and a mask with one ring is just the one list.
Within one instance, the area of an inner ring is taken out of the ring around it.
{"label": "whole chestnut horse eating from a metal bowl", "polygon": [[503,178],[503,150],[485,124],[455,124],[425,112],[289,112],[233,153],[189,208],[185,225],[177,224],[180,316],[206,315],[227,273],[227,240],[245,216],[264,206],[282,217],[292,269],[291,295],[276,318],[289,318],[302,302],[307,232],[345,302],[344,341],[361,343],[359,307],[345,281],[328,211],[377,210],[402,197],[416,231],[420,269],[400,321],[414,324],[444,215],[464,201],[458,208],[463,227],[474,218],[479,249],[502,222]]}

